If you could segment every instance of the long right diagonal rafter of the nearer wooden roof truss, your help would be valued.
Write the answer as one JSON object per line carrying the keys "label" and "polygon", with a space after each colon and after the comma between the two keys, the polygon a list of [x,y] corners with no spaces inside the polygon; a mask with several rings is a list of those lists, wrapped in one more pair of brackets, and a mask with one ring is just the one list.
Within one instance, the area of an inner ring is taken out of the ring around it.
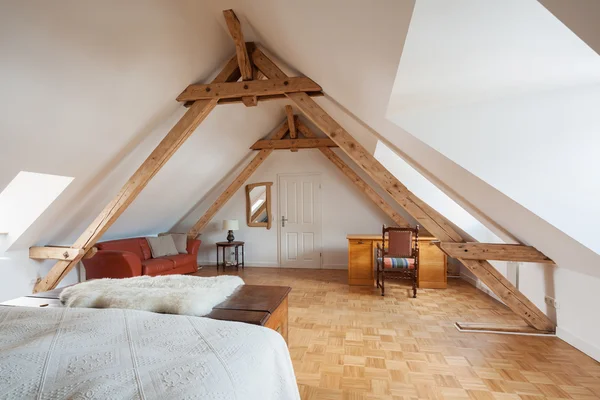
{"label": "long right diagonal rafter of the nearer wooden roof truss", "polygon": [[[287,77],[260,49],[255,48],[251,56],[254,65],[267,78],[285,79]],[[461,235],[454,230],[444,216],[410,192],[306,93],[287,93],[286,96],[425,229],[442,241],[464,242]],[[528,324],[543,331],[555,329],[554,322],[508,279],[498,273],[490,263],[478,260],[460,259],[460,261]]]}

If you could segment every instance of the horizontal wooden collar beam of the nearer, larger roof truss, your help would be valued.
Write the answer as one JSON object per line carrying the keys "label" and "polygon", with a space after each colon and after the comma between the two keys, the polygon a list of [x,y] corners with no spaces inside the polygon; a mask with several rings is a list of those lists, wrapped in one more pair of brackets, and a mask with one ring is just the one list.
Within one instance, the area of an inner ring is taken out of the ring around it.
{"label": "horizontal wooden collar beam of the nearer, larger roof truss", "polygon": [[227,99],[245,96],[285,95],[296,92],[320,92],[321,86],[306,77],[190,85],[177,101]]}

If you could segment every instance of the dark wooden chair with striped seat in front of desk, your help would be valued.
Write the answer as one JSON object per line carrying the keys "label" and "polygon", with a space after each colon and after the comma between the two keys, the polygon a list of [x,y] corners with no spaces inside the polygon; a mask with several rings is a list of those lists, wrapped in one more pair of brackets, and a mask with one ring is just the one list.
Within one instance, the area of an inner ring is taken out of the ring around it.
{"label": "dark wooden chair with striped seat in front of desk", "polygon": [[412,281],[413,298],[417,297],[419,277],[419,225],[415,228],[383,226],[382,245],[377,244],[377,287],[385,295],[385,279]]}

